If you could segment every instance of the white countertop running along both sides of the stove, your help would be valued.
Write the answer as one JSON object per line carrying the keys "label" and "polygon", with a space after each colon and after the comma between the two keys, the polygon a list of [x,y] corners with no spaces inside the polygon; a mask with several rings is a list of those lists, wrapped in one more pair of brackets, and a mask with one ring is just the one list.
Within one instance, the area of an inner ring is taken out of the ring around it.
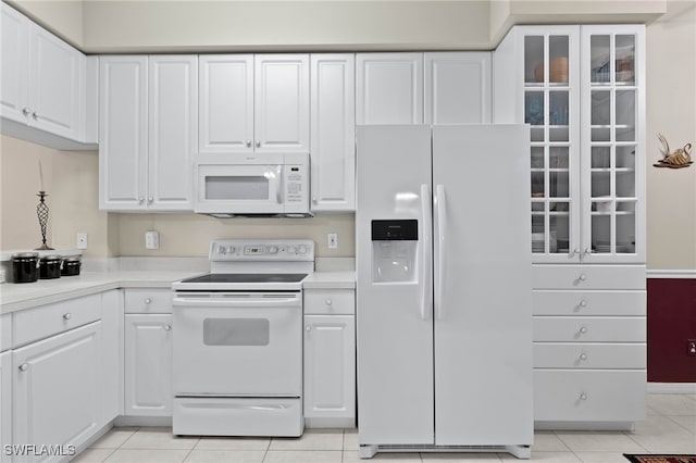
{"label": "white countertop running along both sides of the stove", "polygon": [[[82,272],[76,276],[0,285],[0,313],[60,302],[116,288],[170,288],[173,281],[208,272],[115,271]],[[355,288],[355,272],[315,272],[303,281],[306,289]]]}

